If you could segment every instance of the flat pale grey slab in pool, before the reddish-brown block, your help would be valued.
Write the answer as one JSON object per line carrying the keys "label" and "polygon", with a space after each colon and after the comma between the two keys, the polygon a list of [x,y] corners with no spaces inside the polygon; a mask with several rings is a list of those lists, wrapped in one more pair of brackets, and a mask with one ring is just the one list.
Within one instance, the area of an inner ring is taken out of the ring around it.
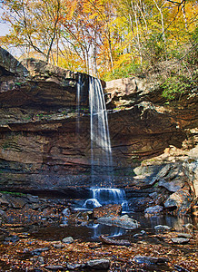
{"label": "flat pale grey slab in pool, before the reddish-brown block", "polygon": [[136,220],[129,218],[128,215],[124,215],[122,217],[100,218],[97,219],[97,222],[107,226],[117,226],[127,229],[134,229],[140,226]]}

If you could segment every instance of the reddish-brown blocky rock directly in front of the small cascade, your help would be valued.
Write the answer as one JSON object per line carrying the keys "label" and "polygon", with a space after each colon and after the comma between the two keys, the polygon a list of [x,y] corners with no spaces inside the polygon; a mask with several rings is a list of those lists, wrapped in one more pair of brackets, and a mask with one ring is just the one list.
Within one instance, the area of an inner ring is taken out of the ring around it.
{"label": "reddish-brown blocky rock directly in front of the small cascade", "polygon": [[103,207],[94,208],[94,219],[111,217],[111,216],[119,216],[122,213],[122,205],[121,204],[109,204]]}

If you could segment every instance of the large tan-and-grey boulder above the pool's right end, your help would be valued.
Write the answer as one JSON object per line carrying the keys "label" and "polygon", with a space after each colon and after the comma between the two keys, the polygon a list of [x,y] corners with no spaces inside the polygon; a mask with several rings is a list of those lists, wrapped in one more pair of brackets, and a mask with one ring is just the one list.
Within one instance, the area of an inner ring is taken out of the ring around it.
{"label": "large tan-and-grey boulder above the pool's right end", "polygon": [[166,209],[176,209],[178,215],[186,214],[191,209],[191,195],[187,189],[180,189],[170,195],[170,197],[164,202]]}

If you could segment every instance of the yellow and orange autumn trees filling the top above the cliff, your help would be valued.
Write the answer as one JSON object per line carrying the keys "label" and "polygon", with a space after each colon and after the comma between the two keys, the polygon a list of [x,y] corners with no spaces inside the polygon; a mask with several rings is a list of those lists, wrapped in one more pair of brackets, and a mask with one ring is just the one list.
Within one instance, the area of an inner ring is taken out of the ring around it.
{"label": "yellow and orange autumn trees filling the top above the cliff", "polygon": [[[2,5],[11,32],[1,44],[105,80],[172,59],[183,63],[197,52],[196,0],[120,0],[119,5],[116,0],[2,0]],[[183,63],[186,69],[189,63]]]}

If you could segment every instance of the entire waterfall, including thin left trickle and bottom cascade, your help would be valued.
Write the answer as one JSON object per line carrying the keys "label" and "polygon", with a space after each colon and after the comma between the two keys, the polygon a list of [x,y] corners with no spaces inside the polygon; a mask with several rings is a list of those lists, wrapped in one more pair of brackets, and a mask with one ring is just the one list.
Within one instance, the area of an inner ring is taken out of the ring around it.
{"label": "entire waterfall, including thin left trickle and bottom cascade", "polygon": [[[79,130],[79,113],[81,99],[81,77],[78,77],[76,93],[77,127]],[[109,135],[107,111],[101,81],[89,77],[89,109],[91,138],[91,179],[90,199],[84,202],[85,209],[93,209],[106,204],[121,204],[128,209],[124,189],[114,189],[114,170],[112,148]]]}

